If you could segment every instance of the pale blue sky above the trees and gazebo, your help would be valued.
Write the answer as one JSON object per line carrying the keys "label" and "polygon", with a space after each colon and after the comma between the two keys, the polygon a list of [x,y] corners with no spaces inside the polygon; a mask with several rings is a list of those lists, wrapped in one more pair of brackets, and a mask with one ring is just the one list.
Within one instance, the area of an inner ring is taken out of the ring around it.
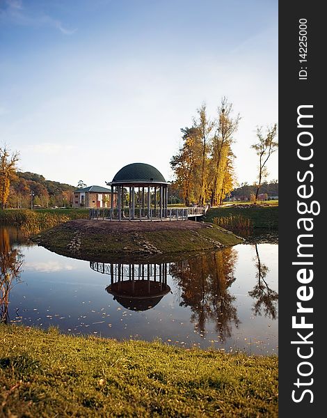
{"label": "pale blue sky above the trees and gazebo", "polygon": [[226,96],[252,184],[256,127],[278,123],[278,1],[0,0],[0,75],[0,146],[22,171],[105,186],[145,162],[173,180],[180,129]]}

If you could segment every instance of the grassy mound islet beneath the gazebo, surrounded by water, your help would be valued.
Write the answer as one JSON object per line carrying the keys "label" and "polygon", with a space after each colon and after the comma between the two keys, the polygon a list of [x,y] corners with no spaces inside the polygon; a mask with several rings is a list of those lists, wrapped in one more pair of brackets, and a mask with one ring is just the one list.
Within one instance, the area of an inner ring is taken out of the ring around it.
{"label": "grassy mound islet beneath the gazebo, surrounded by water", "polygon": [[[142,225],[147,228],[151,226]],[[183,226],[182,221],[180,225]],[[107,226],[108,229],[104,230],[85,230],[77,224],[71,227],[68,223],[44,231],[32,239],[58,254],[92,261],[106,261],[112,256],[153,258],[160,254],[217,249],[242,242],[241,238],[216,225],[194,230],[147,229],[137,234],[130,231],[113,231],[110,229],[110,223]],[[77,237],[80,243],[75,247]]]}

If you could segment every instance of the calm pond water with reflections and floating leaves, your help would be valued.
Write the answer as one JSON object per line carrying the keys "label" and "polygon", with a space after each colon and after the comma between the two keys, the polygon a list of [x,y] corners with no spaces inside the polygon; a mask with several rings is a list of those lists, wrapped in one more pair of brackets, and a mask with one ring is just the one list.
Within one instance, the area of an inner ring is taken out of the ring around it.
{"label": "calm pond water with reflections and floating leaves", "polygon": [[237,245],[176,263],[118,265],[59,256],[2,228],[0,248],[5,322],[278,353],[278,245]]}

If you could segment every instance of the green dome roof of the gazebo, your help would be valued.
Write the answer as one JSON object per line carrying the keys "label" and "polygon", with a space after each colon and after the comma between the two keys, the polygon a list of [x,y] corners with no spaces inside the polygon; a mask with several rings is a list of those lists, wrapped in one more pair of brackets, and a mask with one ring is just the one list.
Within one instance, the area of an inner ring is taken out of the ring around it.
{"label": "green dome roof of the gazebo", "polygon": [[122,167],[118,173],[113,177],[112,183],[166,183],[165,178],[155,167],[143,162],[134,162]]}

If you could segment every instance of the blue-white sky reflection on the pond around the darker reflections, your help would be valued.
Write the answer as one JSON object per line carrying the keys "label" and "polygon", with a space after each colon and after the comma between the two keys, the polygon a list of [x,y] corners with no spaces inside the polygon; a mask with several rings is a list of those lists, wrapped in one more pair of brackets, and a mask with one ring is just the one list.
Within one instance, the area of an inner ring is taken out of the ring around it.
{"label": "blue-white sky reflection on the pond around the darker reflections", "polygon": [[[236,297],[234,306],[240,319],[232,325],[232,336],[221,342],[214,321],[207,320],[205,332],[200,333],[191,323],[191,309],[181,307],[181,290],[168,275],[172,293],[163,296],[159,304],[147,311],[125,309],[106,292],[110,276],[90,269],[88,261],[75,260],[54,254],[42,247],[22,247],[24,265],[22,284],[10,295],[10,319],[25,325],[48,327],[58,325],[63,332],[90,333],[118,339],[138,338],[201,347],[214,346],[230,350],[239,348],[251,353],[277,351],[277,320],[254,316],[255,302],[248,296],[255,277],[255,247],[237,245],[234,281],[229,291]],[[278,246],[258,245],[262,263],[269,266],[266,282],[277,291]]]}

